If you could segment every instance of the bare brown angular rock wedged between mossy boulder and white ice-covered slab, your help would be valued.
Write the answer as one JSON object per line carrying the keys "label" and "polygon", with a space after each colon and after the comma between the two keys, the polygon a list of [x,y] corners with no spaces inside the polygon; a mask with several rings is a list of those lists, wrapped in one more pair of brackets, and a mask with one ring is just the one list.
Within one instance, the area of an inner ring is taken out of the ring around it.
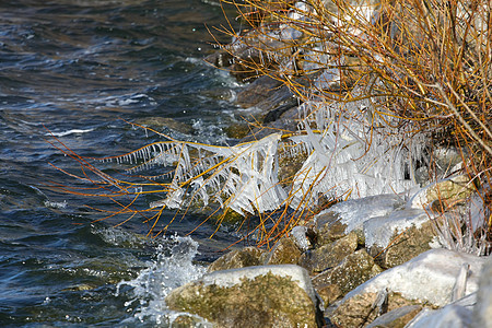
{"label": "bare brown angular rock wedged between mossy boulder and white ice-covered slab", "polygon": [[344,295],[380,272],[383,270],[367,251],[360,249],[348,255],[337,267],[313,278],[313,284],[316,289],[336,284],[340,288],[341,295]]}

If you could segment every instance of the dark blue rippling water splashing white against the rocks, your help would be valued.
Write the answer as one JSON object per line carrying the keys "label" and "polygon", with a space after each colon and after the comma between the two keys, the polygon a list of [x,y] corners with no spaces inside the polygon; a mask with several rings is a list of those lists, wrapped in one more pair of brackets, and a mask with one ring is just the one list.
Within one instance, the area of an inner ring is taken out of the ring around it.
{"label": "dark blue rippling water splashing white against the rocks", "polygon": [[224,23],[214,0],[0,2],[1,327],[165,327],[160,298],[235,242],[225,232],[208,239],[210,224],[192,235],[198,244],[173,237],[199,215],[150,239],[138,218],[121,227],[121,218],[94,222],[101,215],[85,204],[109,200],[47,188],[77,184],[54,166],[79,168],[49,144],[50,132],[85,156],[159,139],[121,119],[226,140],[237,85],[201,60],[213,51],[204,23]]}

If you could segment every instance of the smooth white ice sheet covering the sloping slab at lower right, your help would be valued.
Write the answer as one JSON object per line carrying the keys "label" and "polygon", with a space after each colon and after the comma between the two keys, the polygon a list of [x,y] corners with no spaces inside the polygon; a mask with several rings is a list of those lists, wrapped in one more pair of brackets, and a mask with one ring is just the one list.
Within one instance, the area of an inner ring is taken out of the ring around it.
{"label": "smooth white ice sheet covering the sloping slab at lower right", "polygon": [[401,293],[408,300],[420,300],[432,305],[444,306],[453,300],[453,290],[459,272],[469,265],[465,294],[478,290],[481,267],[487,258],[447,249],[431,249],[410,261],[388,269],[366,281],[345,295],[353,297],[360,293]]}

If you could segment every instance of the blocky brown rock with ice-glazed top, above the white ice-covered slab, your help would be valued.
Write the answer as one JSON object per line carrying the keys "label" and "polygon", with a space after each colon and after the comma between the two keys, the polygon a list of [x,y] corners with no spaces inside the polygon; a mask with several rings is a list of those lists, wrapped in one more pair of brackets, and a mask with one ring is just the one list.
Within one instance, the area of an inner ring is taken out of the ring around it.
{"label": "blocky brown rock with ice-glazed top, above the white ice-covered slab", "polygon": [[431,249],[437,235],[433,222],[423,210],[405,209],[364,222],[365,245],[372,256],[378,256],[383,268],[405,263]]}

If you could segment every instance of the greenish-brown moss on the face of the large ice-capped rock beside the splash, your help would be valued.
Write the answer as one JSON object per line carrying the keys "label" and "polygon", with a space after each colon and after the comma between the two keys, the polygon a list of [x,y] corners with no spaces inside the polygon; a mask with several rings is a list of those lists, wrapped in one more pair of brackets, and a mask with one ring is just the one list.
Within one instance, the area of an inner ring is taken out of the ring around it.
{"label": "greenish-brown moss on the face of the large ice-capped rock beside the splash", "polygon": [[219,327],[317,327],[312,298],[290,277],[272,273],[219,286],[202,281],[174,290],[166,304]]}

